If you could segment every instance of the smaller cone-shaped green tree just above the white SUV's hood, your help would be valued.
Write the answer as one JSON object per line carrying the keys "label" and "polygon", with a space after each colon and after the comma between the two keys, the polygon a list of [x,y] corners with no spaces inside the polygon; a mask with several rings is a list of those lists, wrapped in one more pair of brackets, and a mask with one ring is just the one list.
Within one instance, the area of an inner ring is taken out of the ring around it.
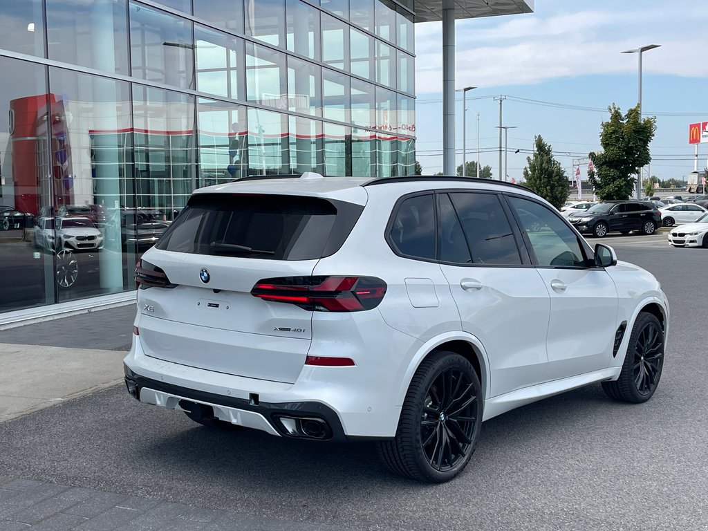
{"label": "smaller cone-shaped green tree just above the white SUV's hood", "polygon": [[524,168],[525,185],[554,207],[560,208],[568,200],[566,171],[553,158],[551,146],[544,142],[541,135],[537,135],[535,142],[533,156],[526,157],[528,166]]}

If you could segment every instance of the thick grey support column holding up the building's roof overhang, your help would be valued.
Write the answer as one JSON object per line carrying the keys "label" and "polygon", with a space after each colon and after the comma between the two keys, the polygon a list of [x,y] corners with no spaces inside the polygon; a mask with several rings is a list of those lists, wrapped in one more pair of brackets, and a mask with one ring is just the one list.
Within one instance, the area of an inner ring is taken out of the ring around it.
{"label": "thick grey support column holding up the building's roof overhang", "polygon": [[442,175],[455,175],[455,4],[442,0]]}

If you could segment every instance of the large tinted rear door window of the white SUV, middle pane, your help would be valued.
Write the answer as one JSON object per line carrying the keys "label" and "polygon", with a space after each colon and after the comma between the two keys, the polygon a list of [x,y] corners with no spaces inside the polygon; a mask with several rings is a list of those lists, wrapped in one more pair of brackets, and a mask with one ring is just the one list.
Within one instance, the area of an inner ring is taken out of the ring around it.
{"label": "large tinted rear door window of the white SUV, middle pane", "polygon": [[501,202],[495,194],[451,193],[472,263],[519,265],[521,256]]}

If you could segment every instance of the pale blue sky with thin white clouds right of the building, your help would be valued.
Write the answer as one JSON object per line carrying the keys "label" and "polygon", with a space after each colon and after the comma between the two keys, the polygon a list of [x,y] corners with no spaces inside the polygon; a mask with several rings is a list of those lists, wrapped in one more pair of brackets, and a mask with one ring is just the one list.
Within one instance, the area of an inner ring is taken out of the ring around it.
{"label": "pale blue sky with thin white clouds right of the building", "polygon": [[[600,150],[605,110],[636,105],[637,56],[622,50],[658,44],[644,53],[642,109],[656,115],[651,173],[680,178],[693,170],[688,125],[708,121],[708,0],[536,0],[535,13],[457,21],[456,84],[467,92],[467,160],[498,174],[500,94],[508,137],[508,176],[517,181],[535,135],[552,145],[571,173],[573,157]],[[416,155],[424,173],[442,171],[442,28],[416,24]],[[462,163],[462,95],[457,94],[457,164]],[[542,101],[585,108],[576,110]],[[513,154],[520,149],[520,154]],[[526,153],[524,153],[526,152]],[[699,169],[708,166],[699,147]],[[586,168],[581,169],[583,178]]]}

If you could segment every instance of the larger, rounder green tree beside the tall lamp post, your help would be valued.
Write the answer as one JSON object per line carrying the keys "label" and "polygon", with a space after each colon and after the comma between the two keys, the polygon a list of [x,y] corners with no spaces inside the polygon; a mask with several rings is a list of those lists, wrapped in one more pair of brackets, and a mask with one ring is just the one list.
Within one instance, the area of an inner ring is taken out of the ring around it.
{"label": "larger, rounder green tree beside the tall lamp post", "polygon": [[600,145],[603,152],[591,152],[595,171],[588,172],[588,181],[600,200],[627,199],[632,195],[636,173],[651,161],[649,142],[656,132],[656,118],[639,118],[639,105],[622,115],[612,103],[607,108],[610,120],[603,122]]}

